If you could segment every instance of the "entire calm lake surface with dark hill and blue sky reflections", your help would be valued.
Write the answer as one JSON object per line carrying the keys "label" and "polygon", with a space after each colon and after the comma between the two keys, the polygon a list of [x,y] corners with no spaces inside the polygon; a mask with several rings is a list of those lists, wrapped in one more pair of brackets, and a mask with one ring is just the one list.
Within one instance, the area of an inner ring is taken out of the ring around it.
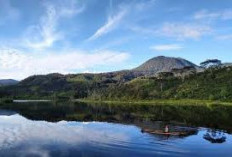
{"label": "entire calm lake surface with dark hill and blue sky reflections", "polygon": [[[231,119],[232,107],[219,105],[1,104],[0,156],[230,157]],[[187,133],[142,131],[166,125]]]}

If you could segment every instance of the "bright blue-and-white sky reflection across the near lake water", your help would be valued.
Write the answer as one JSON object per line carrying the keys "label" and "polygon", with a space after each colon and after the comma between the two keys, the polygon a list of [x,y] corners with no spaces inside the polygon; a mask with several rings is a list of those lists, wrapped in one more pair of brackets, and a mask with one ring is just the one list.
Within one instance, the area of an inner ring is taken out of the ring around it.
{"label": "bright blue-and-white sky reflection across the near lake water", "polygon": [[141,133],[134,125],[106,122],[46,122],[19,114],[0,116],[0,156],[226,156],[231,135],[220,149],[204,142],[206,129],[187,137]]}

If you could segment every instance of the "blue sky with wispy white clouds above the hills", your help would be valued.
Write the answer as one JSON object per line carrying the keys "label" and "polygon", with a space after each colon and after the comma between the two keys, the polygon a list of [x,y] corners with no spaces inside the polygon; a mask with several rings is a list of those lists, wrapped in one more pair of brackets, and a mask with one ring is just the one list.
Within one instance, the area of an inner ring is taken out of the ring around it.
{"label": "blue sky with wispy white clouds above the hills", "polygon": [[0,0],[0,79],[232,62],[231,0]]}

